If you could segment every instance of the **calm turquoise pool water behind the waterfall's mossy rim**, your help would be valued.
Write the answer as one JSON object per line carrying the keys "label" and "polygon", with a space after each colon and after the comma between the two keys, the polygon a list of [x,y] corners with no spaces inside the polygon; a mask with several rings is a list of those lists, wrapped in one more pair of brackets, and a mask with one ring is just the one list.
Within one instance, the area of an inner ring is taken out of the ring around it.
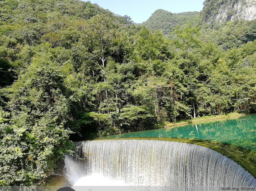
{"label": "calm turquoise pool water behind the waterfall's mossy rim", "polygon": [[124,133],[109,137],[180,137],[214,140],[256,151],[256,114],[236,119],[198,122],[179,127]]}

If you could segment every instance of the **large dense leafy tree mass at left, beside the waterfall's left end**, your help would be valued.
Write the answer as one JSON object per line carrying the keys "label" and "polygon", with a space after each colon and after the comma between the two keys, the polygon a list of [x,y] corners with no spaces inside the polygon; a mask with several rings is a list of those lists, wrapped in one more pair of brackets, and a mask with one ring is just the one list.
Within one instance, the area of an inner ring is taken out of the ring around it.
{"label": "large dense leafy tree mass at left, beside the waterfall's left end", "polygon": [[[0,185],[34,185],[54,174],[57,161],[70,152],[66,128],[69,101],[64,75],[56,63],[34,58],[26,73],[5,92],[7,118],[0,124]],[[7,94],[7,95],[8,95]],[[8,119],[9,118],[9,119]]]}

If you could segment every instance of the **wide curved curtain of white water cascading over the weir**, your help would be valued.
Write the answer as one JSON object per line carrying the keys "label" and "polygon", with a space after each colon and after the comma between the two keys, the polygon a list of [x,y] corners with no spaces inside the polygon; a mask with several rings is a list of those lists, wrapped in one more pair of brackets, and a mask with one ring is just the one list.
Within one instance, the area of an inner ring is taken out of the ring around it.
{"label": "wide curved curtain of white water cascading over the weir", "polygon": [[[180,190],[221,190],[255,186],[256,179],[233,160],[200,145],[159,140],[77,142],[66,156],[72,185],[97,183],[131,186],[176,186]],[[94,178],[95,177],[95,178]],[[111,182],[112,181],[112,182]]]}

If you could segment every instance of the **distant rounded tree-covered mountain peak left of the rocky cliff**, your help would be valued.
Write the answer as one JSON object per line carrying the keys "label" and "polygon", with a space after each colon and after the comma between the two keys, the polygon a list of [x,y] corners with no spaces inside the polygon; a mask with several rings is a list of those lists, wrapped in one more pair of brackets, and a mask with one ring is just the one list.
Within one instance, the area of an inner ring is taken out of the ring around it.
{"label": "distant rounded tree-covered mountain peak left of the rocky cliff", "polygon": [[199,12],[171,13],[162,9],[156,10],[151,17],[142,23],[151,31],[160,29],[165,35],[172,32],[172,28],[178,24],[183,25],[186,22],[193,22]]}

